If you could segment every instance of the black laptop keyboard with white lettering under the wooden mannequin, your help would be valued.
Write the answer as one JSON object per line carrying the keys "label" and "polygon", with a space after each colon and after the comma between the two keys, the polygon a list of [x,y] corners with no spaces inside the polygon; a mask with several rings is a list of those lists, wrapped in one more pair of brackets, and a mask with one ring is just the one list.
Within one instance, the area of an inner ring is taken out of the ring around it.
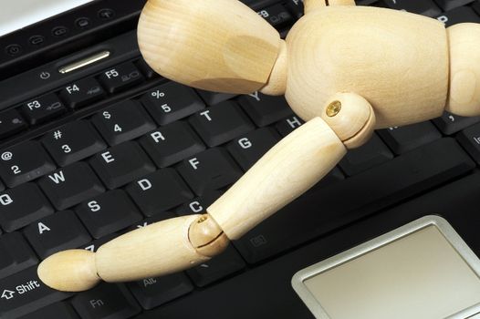
{"label": "black laptop keyboard with white lettering under the wooden mannequin", "polygon": [[[284,36],[303,11],[298,0],[244,2]],[[428,15],[447,26],[480,23],[479,1],[358,4]],[[133,40],[126,34],[116,43],[134,46]],[[126,57],[112,67],[90,67],[61,86],[36,87],[35,97],[0,112],[2,319],[157,314],[151,310],[162,312],[185,295],[214,290],[216,283],[463,178],[480,164],[480,118],[445,113],[382,129],[312,190],[212,261],[162,278],[56,292],[39,281],[38,262],[65,249],[95,252],[124,232],[204,211],[303,124],[285,98],[195,90],[155,75],[138,49]]]}

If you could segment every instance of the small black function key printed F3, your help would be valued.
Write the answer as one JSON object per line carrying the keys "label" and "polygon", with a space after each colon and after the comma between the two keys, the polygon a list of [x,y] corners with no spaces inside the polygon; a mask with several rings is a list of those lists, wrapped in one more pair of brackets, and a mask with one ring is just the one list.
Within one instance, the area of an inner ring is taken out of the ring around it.
{"label": "small black function key printed F3", "polygon": [[48,119],[57,118],[67,111],[54,93],[26,102],[20,111],[30,125],[41,124]]}

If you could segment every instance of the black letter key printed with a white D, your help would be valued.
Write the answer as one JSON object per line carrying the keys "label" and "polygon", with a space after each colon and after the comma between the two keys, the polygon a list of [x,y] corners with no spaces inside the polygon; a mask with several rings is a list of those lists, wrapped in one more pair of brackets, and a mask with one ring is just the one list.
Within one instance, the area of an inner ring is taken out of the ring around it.
{"label": "black letter key printed with a white D", "polygon": [[167,211],[193,198],[192,191],[173,169],[157,170],[130,183],[126,190],[147,216]]}

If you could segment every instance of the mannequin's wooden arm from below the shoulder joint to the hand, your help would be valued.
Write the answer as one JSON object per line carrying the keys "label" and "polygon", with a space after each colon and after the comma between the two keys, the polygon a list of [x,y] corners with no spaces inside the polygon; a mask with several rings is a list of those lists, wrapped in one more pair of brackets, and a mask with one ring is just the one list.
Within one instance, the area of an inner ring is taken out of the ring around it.
{"label": "mannequin's wooden arm from below the shoulder joint to the hand", "polygon": [[321,118],[282,139],[216,201],[208,214],[161,221],[126,233],[99,251],[58,252],[38,267],[44,283],[82,291],[99,283],[133,281],[205,262],[256,224],[295,200],[347,152]]}

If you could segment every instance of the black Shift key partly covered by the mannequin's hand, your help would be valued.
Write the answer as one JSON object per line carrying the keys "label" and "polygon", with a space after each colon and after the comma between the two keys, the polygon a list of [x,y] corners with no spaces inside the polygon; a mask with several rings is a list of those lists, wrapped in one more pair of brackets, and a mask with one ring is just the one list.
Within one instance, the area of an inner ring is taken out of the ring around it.
{"label": "black Shift key partly covered by the mannequin's hand", "polygon": [[48,288],[38,279],[34,266],[0,281],[0,318],[15,319],[70,295]]}

